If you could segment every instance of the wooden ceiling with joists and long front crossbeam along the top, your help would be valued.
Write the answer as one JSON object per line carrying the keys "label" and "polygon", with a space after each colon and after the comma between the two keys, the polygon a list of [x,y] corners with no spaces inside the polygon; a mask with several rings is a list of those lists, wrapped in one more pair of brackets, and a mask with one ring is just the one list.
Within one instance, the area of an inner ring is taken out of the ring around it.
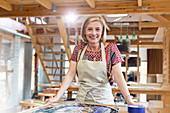
{"label": "wooden ceiling with joists and long front crossbeam along the top", "polygon": [[[52,5],[56,12],[52,12]],[[0,17],[89,14],[169,14],[170,0],[0,0]],[[22,8],[21,8],[22,7]]]}

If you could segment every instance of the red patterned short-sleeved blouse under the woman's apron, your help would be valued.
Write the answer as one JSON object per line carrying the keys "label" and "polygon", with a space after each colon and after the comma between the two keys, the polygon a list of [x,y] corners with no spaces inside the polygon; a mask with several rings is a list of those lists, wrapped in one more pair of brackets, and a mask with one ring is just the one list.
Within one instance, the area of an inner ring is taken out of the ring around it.
{"label": "red patterned short-sleeved blouse under the woman's apron", "polygon": [[[83,51],[85,46],[86,46],[86,44],[81,44],[81,45],[77,45],[74,48],[74,51],[73,51],[72,56],[71,56],[72,61],[75,61],[75,62],[79,61],[81,52]],[[110,82],[110,85],[112,85],[113,82],[114,82],[113,74],[112,74],[112,66],[114,66],[115,64],[117,64],[119,62],[123,63],[124,60],[123,60],[121,53],[118,50],[116,44],[109,43],[105,47],[105,53],[106,53],[108,81]],[[94,60],[95,61],[101,61],[101,51],[88,51],[88,50],[86,50],[85,55],[86,55],[86,59],[88,59],[89,61],[94,61]]]}

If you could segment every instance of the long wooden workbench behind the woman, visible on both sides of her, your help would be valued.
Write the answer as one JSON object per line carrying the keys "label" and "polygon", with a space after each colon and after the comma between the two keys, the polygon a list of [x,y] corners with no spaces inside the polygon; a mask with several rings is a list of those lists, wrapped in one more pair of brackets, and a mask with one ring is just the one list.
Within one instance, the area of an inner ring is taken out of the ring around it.
{"label": "long wooden workbench behind the woman, visible on both sides of her", "polygon": [[[38,86],[43,87],[55,87],[59,88],[60,86],[57,85],[50,85],[50,84],[38,84]],[[78,91],[78,86],[70,86],[68,91],[68,99],[72,97],[72,91]],[[130,94],[149,94],[149,95],[161,95],[161,100],[164,103],[164,107],[169,107],[169,100],[170,100],[170,90],[161,89],[161,88],[143,88],[143,87],[128,87]],[[112,87],[112,93],[121,93],[118,88]],[[167,105],[168,103],[168,105]]]}

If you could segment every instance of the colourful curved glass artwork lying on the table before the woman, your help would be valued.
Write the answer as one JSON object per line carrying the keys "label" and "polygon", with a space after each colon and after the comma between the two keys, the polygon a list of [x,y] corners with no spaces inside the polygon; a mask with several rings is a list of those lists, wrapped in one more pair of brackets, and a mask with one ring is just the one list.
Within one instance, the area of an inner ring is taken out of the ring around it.
{"label": "colourful curved glass artwork lying on the table before the woman", "polygon": [[[119,109],[123,108],[123,109]],[[34,107],[19,113],[128,113],[126,105],[92,103],[53,103]]]}

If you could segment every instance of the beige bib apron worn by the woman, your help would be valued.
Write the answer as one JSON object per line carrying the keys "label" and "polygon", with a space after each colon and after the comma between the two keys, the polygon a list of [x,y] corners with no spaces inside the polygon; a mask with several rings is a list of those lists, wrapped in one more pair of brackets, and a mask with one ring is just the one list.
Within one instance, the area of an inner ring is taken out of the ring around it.
{"label": "beige bib apron worn by the woman", "polygon": [[82,60],[87,46],[77,64],[79,75],[78,103],[114,104],[111,86],[108,82],[104,44],[101,43],[102,61]]}

